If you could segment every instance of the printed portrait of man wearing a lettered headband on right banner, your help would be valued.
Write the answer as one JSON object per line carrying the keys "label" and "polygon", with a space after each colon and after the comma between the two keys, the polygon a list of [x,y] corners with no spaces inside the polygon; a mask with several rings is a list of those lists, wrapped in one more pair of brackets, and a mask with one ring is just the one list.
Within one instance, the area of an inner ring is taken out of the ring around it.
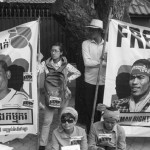
{"label": "printed portrait of man wearing a lettered headband on right banner", "polygon": [[131,95],[114,100],[112,105],[120,112],[150,112],[150,61],[139,59],[131,68],[129,85]]}

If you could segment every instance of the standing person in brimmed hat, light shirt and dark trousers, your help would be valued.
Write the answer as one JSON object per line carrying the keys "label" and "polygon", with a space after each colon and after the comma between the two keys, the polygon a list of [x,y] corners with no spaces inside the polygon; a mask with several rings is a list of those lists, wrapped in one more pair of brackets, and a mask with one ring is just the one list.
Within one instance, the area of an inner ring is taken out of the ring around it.
{"label": "standing person in brimmed hat, light shirt and dark trousers", "polygon": [[[85,123],[87,125],[87,133],[90,129],[92,109],[94,103],[95,89],[97,83],[98,70],[100,67],[100,58],[102,55],[102,49],[104,40],[103,34],[103,22],[98,19],[93,19],[89,26],[90,38],[82,43],[82,55],[85,66],[85,87],[84,87],[84,102],[85,102]],[[107,50],[106,50],[107,51]],[[100,81],[98,89],[97,103],[103,102],[104,84],[105,84],[105,72],[106,72],[106,54],[104,55],[104,61],[102,61],[102,70],[100,70]],[[100,112],[95,113],[95,120],[100,120]]]}

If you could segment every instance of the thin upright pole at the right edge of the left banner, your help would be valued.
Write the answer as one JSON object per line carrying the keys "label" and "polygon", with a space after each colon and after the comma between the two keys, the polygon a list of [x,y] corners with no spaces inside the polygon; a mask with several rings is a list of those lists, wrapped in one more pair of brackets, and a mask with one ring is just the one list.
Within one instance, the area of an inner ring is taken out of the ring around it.
{"label": "thin upright pole at the right edge of the left banner", "polygon": [[[39,16],[38,18],[38,49],[37,49],[37,54],[40,55],[40,49],[41,49],[41,44],[40,44],[40,23],[41,23],[41,18]],[[39,64],[40,63],[40,60],[38,59],[38,56],[37,56],[37,63]],[[40,106],[40,74],[39,72],[37,73],[37,96],[38,96],[38,108],[37,108],[37,112],[38,112],[38,118],[37,118],[37,131],[38,131],[38,139],[37,139],[37,150],[39,149],[39,146],[40,146],[40,132],[39,132],[39,115],[40,115],[40,112],[39,112],[39,106]]]}

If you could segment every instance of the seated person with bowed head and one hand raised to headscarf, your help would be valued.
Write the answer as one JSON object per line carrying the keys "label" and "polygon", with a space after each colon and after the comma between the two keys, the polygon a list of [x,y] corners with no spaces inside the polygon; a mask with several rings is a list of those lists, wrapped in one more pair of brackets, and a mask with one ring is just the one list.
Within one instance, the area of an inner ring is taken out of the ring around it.
{"label": "seated person with bowed head and one hand raised to headscarf", "polygon": [[104,111],[103,121],[95,122],[89,134],[89,150],[126,150],[124,129],[117,124],[120,113],[116,108],[99,105]]}

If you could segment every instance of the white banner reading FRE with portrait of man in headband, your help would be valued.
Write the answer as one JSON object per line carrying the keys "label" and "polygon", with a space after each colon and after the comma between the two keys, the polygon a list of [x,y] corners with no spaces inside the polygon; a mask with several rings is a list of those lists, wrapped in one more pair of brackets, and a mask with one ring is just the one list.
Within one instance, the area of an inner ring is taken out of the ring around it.
{"label": "white banner reading FRE with portrait of man in headband", "polygon": [[104,104],[120,110],[127,136],[150,137],[150,28],[112,19],[108,41]]}

